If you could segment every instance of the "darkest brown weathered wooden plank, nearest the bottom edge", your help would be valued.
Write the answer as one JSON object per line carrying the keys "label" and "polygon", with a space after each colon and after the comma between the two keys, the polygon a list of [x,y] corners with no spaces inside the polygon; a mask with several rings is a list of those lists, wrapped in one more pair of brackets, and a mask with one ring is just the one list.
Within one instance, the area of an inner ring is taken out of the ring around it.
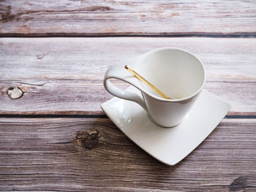
{"label": "darkest brown weathered wooden plank, nearest the bottom edge", "polygon": [[166,166],[107,118],[0,118],[0,190],[255,191],[255,127],[255,119],[222,120]]}

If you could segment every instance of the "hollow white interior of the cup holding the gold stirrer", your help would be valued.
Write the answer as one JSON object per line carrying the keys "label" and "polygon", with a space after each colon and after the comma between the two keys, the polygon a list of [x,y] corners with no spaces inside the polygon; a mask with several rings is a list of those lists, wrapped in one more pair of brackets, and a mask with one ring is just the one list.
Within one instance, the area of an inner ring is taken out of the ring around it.
{"label": "hollow white interior of the cup holding the gold stirrer", "polygon": [[[200,90],[205,81],[203,64],[191,53],[175,48],[162,48],[146,53],[135,70],[166,96],[184,99]],[[152,88],[143,88],[162,99]]]}

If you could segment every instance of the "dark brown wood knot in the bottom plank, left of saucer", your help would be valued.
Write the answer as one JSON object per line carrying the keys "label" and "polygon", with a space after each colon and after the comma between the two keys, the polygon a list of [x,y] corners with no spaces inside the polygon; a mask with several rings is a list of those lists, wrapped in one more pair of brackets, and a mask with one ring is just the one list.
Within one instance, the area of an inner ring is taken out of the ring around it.
{"label": "dark brown wood knot in the bottom plank, left of saucer", "polygon": [[99,131],[90,130],[90,131],[78,131],[76,141],[86,147],[86,149],[93,149],[97,146],[99,142]]}

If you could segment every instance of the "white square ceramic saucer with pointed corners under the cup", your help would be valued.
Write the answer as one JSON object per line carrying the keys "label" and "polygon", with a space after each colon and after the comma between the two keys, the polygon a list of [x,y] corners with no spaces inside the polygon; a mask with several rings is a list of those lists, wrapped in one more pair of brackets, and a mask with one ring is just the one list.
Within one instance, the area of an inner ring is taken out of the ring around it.
{"label": "white square ceramic saucer with pointed corners under the cup", "polygon": [[[138,92],[130,86],[129,91]],[[202,90],[184,121],[173,128],[157,126],[132,101],[114,97],[101,105],[124,134],[164,164],[175,165],[203,142],[230,110],[230,104]]]}

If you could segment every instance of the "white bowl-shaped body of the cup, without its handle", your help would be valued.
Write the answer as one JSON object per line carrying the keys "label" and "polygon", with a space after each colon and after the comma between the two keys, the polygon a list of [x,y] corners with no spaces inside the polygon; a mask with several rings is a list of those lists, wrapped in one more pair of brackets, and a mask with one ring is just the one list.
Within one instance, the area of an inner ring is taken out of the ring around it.
{"label": "white bowl-shaped body of the cup, without its handle", "polygon": [[170,99],[163,99],[148,85],[141,91],[148,116],[159,126],[172,127],[182,122],[205,82],[202,62],[192,53],[176,48],[161,48],[146,53],[135,71]]}

